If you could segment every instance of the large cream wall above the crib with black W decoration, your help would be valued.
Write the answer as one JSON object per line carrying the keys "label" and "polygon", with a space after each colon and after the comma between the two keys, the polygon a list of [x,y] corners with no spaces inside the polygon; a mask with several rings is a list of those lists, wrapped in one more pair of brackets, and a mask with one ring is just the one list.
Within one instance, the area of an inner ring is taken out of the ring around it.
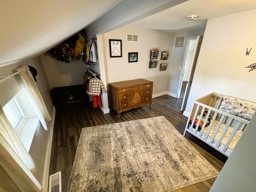
{"label": "large cream wall above the crib with black W decoration", "polygon": [[[210,92],[256,102],[256,10],[208,20],[194,74],[186,112],[194,99]],[[246,49],[252,48],[246,56]]]}

